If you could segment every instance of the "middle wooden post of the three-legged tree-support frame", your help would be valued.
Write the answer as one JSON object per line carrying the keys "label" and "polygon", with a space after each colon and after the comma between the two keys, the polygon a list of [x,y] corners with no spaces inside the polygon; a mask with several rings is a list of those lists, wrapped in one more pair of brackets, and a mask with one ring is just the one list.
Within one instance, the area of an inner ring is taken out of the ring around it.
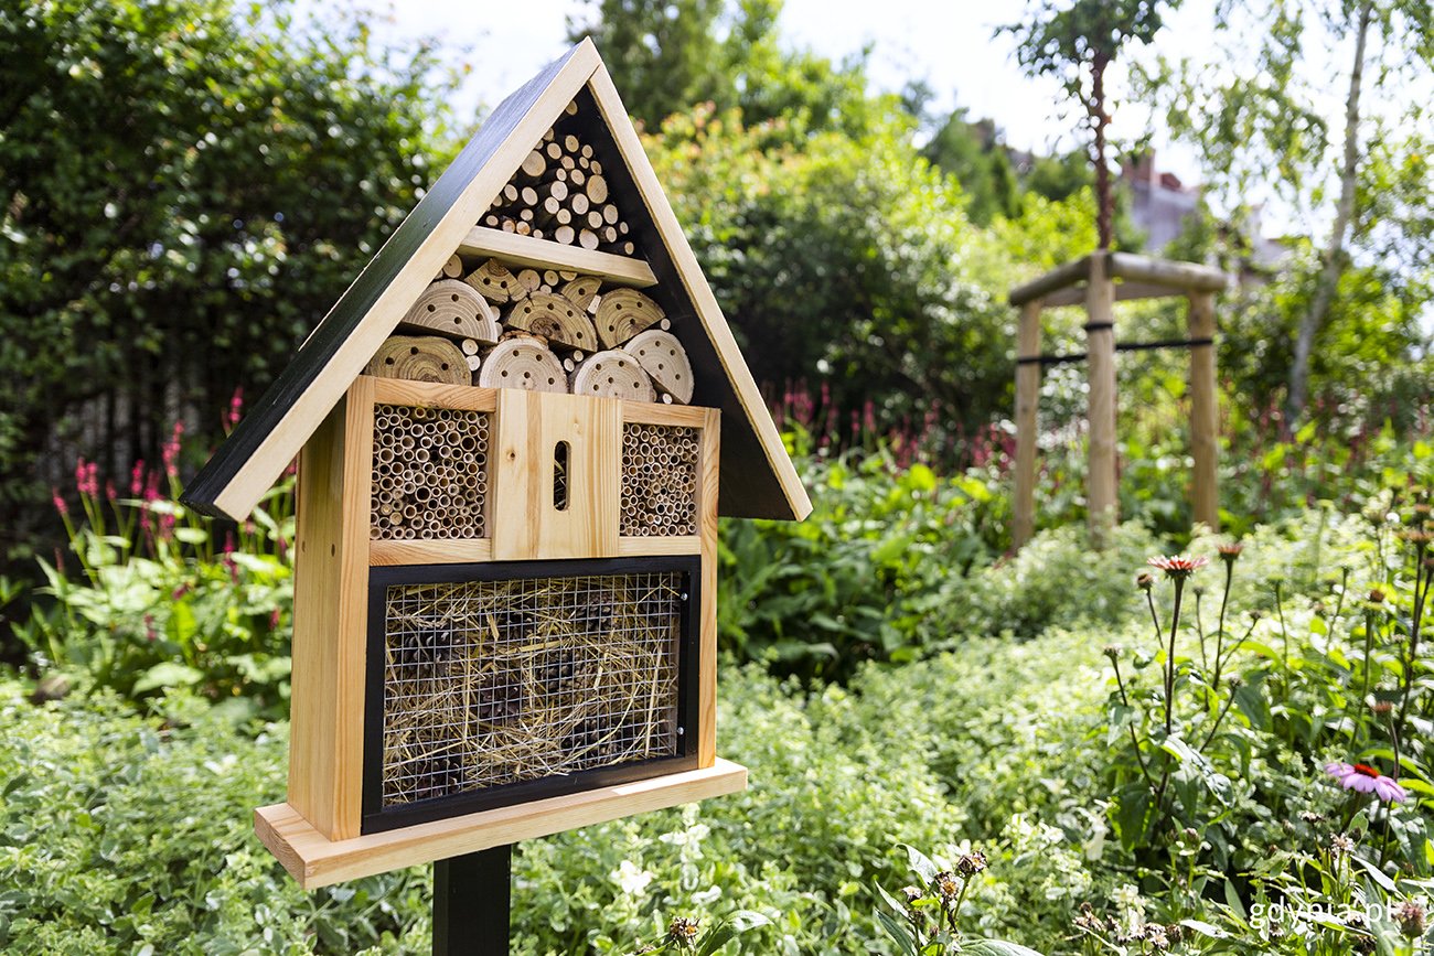
{"label": "middle wooden post of the three-legged tree-support frame", "polygon": [[1090,510],[1091,539],[1097,546],[1108,540],[1119,510],[1116,499],[1116,285],[1110,278],[1110,254],[1090,257],[1086,284],[1086,351],[1090,376],[1088,410],[1090,454],[1086,473],[1086,505]]}

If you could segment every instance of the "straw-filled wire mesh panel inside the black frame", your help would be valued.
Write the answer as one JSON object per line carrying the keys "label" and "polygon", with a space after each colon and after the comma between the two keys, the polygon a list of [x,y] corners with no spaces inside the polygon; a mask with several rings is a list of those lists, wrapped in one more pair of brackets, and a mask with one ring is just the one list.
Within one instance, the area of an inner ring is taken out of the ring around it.
{"label": "straw-filled wire mesh panel inside the black frame", "polygon": [[683,754],[688,580],[381,585],[380,807]]}

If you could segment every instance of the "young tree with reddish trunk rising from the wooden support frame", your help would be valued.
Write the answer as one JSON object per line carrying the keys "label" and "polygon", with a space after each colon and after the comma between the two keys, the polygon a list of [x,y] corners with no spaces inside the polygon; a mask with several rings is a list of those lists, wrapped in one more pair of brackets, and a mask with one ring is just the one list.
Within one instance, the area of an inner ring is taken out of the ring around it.
{"label": "young tree with reddish trunk rising from the wooden support frame", "polygon": [[1101,249],[1116,238],[1106,70],[1129,44],[1150,43],[1163,26],[1162,7],[1177,6],[1179,0],[1035,0],[1020,23],[1001,27],[1017,37],[1017,59],[1027,73],[1055,77],[1086,110]]}

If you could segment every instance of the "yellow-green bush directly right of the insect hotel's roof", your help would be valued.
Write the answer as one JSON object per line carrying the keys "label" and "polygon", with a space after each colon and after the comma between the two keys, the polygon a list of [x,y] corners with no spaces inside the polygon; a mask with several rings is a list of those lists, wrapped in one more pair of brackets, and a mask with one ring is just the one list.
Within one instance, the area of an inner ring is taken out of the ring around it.
{"label": "yellow-green bush directly right of the insect hotel's roof", "polygon": [[[1011,317],[961,265],[955,183],[896,119],[764,149],[734,115],[674,116],[645,145],[759,381],[829,383],[835,420],[979,423],[1004,401]],[[956,268],[954,268],[954,265]]]}

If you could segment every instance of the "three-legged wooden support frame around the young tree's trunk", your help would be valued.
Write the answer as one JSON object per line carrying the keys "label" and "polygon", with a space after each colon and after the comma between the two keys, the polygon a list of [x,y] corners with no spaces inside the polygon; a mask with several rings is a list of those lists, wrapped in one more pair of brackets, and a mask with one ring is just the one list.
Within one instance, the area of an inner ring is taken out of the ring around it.
{"label": "three-legged wooden support frame around the young tree's trunk", "polygon": [[[1116,483],[1116,353],[1150,348],[1190,350],[1190,444],[1195,459],[1192,497],[1195,520],[1217,527],[1215,295],[1229,285],[1220,269],[1172,262],[1127,252],[1091,252],[1074,262],[1011,290],[1021,310],[1015,365],[1015,502],[1011,537],[1017,548],[1035,530],[1035,437],[1041,368],[1068,361],[1087,363],[1090,451],[1087,507],[1096,540],[1119,517]],[[1114,304],[1183,295],[1189,301],[1189,338],[1116,344]],[[1041,311],[1086,305],[1086,351],[1041,354]]]}

